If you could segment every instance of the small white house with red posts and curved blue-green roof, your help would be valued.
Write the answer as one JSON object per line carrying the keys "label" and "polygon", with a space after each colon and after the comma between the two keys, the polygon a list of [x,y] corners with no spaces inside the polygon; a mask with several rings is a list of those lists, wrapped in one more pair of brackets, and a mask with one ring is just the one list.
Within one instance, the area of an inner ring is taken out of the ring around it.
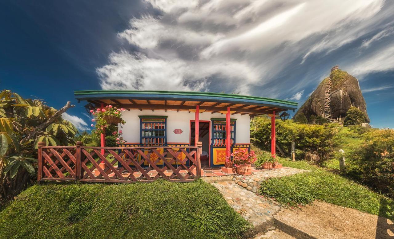
{"label": "small white house with red posts and curved blue-green roof", "polygon": [[[236,149],[250,149],[250,119],[275,117],[295,110],[297,103],[236,94],[156,90],[82,90],[75,98],[86,108],[125,108],[125,147],[184,147],[202,142],[201,165],[222,166]],[[104,136],[102,135],[102,139]],[[275,155],[275,123],[272,127]],[[104,140],[102,140],[104,147]],[[180,158],[184,155],[180,154]]]}

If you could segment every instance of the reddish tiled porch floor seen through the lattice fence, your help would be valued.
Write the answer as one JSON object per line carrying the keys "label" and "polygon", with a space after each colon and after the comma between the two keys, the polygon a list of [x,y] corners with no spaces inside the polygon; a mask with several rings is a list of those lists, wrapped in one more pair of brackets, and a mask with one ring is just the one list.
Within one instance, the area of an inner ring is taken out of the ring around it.
{"label": "reddish tiled porch floor seen through the lattice fence", "polygon": [[[232,174],[228,174],[228,173],[224,173],[224,172],[222,172],[221,171],[221,167],[208,167],[208,166],[203,166],[203,167],[201,167],[202,169],[203,169],[203,177],[212,177],[212,176],[227,176],[227,175],[234,175],[235,173],[232,173]],[[288,169],[289,167],[282,167],[281,169]],[[94,171],[93,171],[93,173],[95,174],[97,169],[95,169]],[[265,169],[256,169],[255,167],[252,167],[252,173],[253,172],[260,172],[261,170],[265,170]],[[277,169],[272,169],[272,170],[277,170]],[[187,171],[186,171],[186,169],[181,169],[180,171],[179,171],[179,173],[182,175],[182,176],[185,176],[186,175],[186,173],[187,173]],[[167,176],[170,176],[171,174],[172,174],[172,170],[166,170],[165,172],[164,172],[164,174],[165,175],[167,175]],[[110,176],[110,177],[112,177],[113,175],[115,175],[114,173],[110,173],[110,174],[108,174],[108,176]],[[130,175],[130,173],[122,173],[122,176],[124,176],[124,177],[127,177],[128,175]],[[133,175],[135,176],[135,177],[139,177],[139,176],[141,176],[141,173],[133,173]],[[150,176],[150,177],[154,177],[154,176],[156,176],[157,175],[157,171],[156,170],[151,170],[151,171],[149,171],[149,173],[148,173],[148,175]]]}

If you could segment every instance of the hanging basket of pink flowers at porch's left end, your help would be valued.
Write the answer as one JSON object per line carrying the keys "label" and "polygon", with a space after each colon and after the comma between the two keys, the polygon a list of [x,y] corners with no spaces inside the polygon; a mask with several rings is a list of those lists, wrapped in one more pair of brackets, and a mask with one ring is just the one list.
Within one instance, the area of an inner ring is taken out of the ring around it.
{"label": "hanging basket of pink flowers at porch's left end", "polygon": [[[96,110],[90,110],[93,114],[94,119],[92,120],[91,127],[96,127],[97,133],[105,133],[106,131],[112,132],[112,135],[116,137],[116,143],[122,144],[126,141],[123,139],[122,125],[126,123],[122,119],[122,112],[125,111],[124,108],[117,108],[112,105],[107,105],[105,108],[97,108]],[[118,131],[117,125],[112,125],[105,120],[105,116],[115,116],[121,118],[121,129]],[[96,123],[95,125],[93,123]]]}

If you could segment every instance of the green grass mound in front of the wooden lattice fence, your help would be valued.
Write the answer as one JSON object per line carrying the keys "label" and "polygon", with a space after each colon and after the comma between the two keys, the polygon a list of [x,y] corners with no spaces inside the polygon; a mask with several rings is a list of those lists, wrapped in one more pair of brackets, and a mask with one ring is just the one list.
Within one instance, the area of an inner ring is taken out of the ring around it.
{"label": "green grass mound in front of the wooden lattice fence", "polygon": [[236,238],[249,227],[203,180],[35,185],[0,212],[0,238]]}

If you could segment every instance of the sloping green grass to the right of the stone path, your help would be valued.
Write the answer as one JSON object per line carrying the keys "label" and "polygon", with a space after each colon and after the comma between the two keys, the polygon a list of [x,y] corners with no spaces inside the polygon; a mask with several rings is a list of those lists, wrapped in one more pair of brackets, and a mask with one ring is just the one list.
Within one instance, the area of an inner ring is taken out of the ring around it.
{"label": "sloping green grass to the right of the stone path", "polygon": [[[258,154],[269,154],[253,147]],[[288,158],[277,157],[285,167],[308,169],[282,178],[271,178],[262,183],[260,193],[278,202],[297,206],[323,200],[338,206],[354,208],[374,215],[394,219],[394,201],[348,178],[336,175],[305,161],[292,162]]]}

